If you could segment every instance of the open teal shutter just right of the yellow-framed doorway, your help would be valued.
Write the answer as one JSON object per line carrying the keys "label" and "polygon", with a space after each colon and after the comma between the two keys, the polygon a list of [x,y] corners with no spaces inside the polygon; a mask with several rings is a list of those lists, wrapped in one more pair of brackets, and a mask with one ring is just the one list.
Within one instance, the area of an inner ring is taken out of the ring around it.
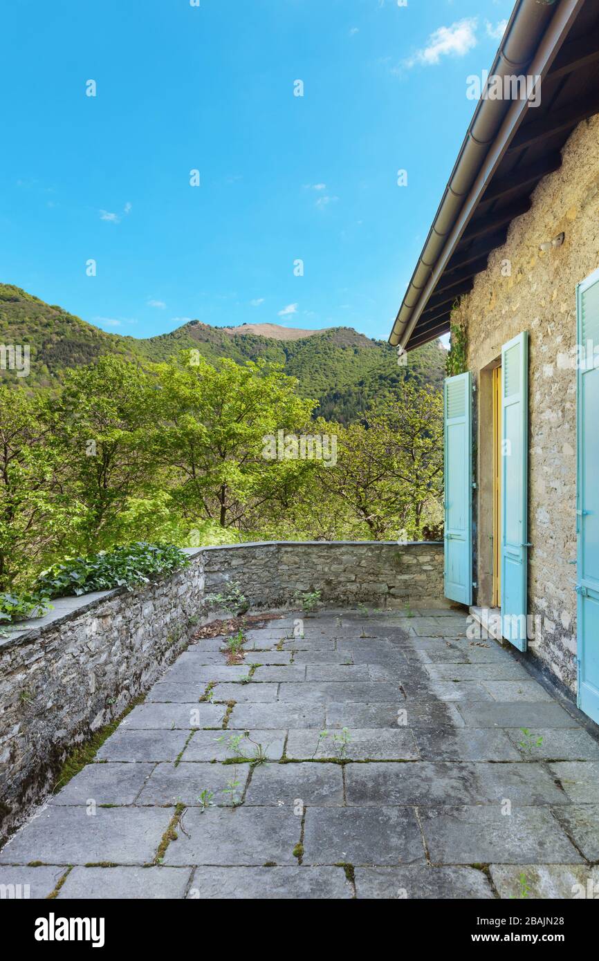
{"label": "open teal shutter just right of the yellow-framed doorway", "polygon": [[527,641],[528,333],[504,344],[501,463],[501,625],[519,651]]}

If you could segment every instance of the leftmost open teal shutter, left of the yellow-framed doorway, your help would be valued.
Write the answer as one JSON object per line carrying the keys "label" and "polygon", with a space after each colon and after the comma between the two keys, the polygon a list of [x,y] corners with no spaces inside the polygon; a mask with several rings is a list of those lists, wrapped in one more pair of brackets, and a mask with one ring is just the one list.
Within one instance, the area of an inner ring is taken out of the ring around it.
{"label": "leftmost open teal shutter, left of the yellow-framed doorway", "polygon": [[472,604],[472,377],[448,377],[443,389],[445,597]]}

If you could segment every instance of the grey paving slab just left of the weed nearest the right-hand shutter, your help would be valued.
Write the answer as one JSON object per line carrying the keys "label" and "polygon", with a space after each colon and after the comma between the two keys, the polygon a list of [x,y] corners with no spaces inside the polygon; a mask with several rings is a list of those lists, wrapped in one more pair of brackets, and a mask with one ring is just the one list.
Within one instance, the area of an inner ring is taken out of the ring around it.
{"label": "grey paving slab just left of the weed nearest the right-hand shutter", "polygon": [[488,727],[415,727],[414,738],[425,761],[519,761],[522,756],[503,730]]}

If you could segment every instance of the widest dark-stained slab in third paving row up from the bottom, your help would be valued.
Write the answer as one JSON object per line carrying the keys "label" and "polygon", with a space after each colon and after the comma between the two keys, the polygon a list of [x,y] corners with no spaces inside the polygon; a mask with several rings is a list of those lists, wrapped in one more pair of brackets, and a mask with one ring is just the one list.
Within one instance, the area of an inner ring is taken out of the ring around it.
{"label": "widest dark-stained slab in third paving row up from the bottom", "polygon": [[485,761],[351,764],[345,771],[348,804],[513,805],[565,804],[567,796],[545,769]]}

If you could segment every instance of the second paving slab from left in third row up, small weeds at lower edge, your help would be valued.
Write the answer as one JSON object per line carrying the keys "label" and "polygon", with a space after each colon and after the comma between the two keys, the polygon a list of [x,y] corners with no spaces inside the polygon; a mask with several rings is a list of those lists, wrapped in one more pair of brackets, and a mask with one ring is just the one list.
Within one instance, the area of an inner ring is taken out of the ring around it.
{"label": "second paving slab from left in third row up, small weeds at lower edge", "polygon": [[[231,806],[241,800],[249,772],[249,764],[210,764],[185,760],[177,767],[173,764],[157,764],[137,804],[168,804],[174,807],[182,803],[192,807],[202,803],[200,795],[206,790],[212,793],[212,804]],[[227,789],[232,781],[237,782],[233,797]]]}

